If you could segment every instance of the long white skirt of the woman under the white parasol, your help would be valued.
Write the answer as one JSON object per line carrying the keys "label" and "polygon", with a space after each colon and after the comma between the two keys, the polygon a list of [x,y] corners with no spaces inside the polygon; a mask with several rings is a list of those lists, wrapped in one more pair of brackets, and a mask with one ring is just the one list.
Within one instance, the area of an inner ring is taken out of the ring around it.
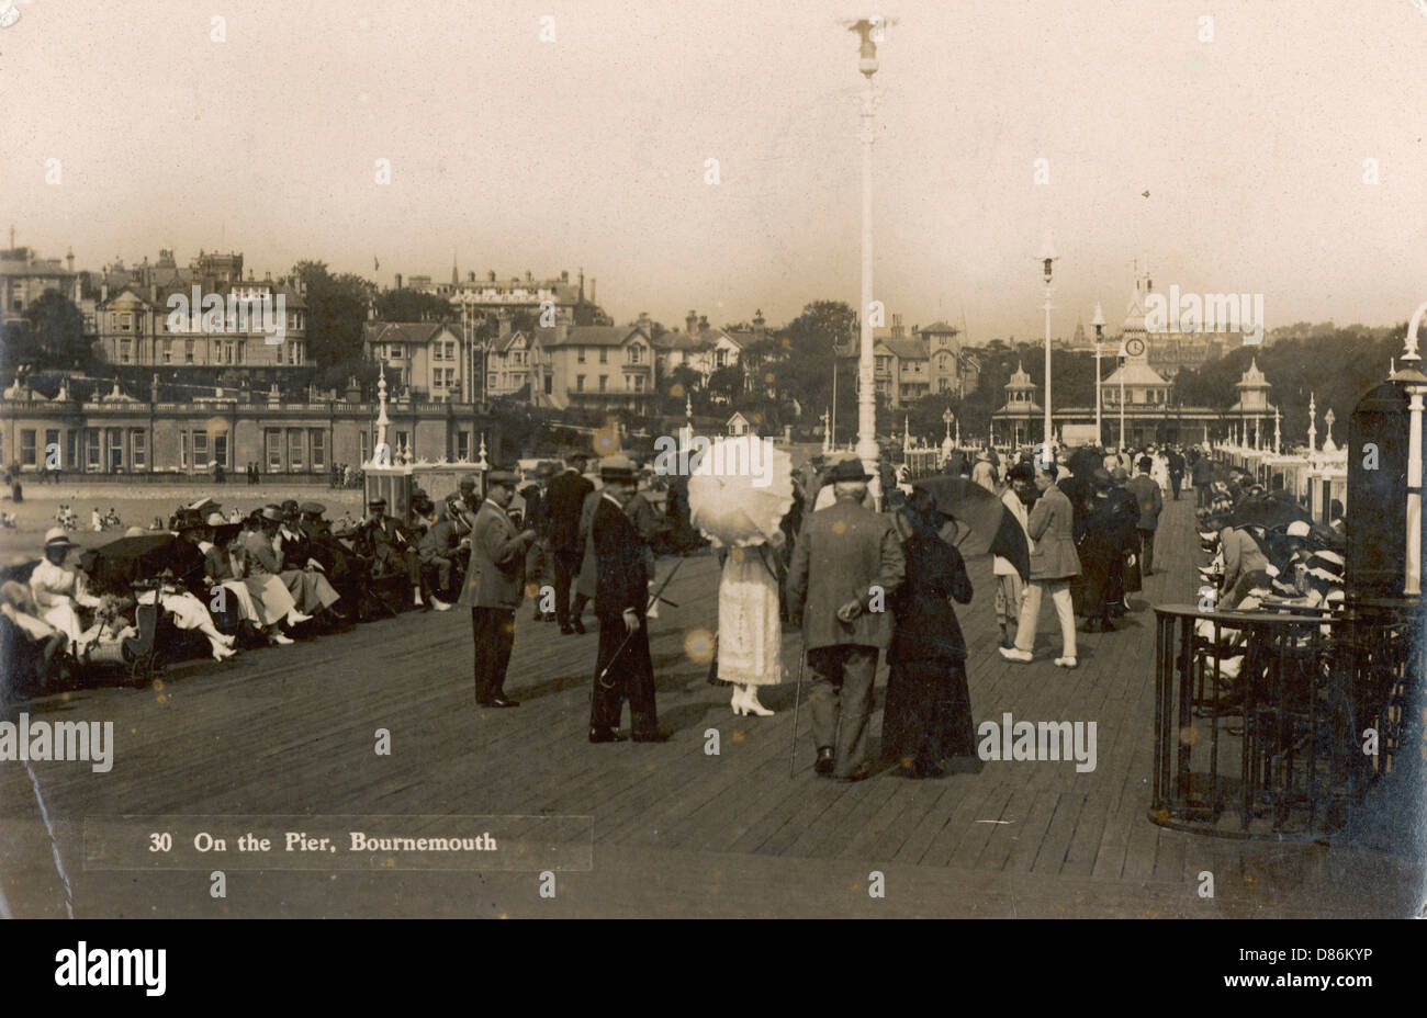
{"label": "long white skirt of the woman under the white parasol", "polygon": [[718,585],[718,677],[738,686],[782,682],[778,580],[758,547],[729,549]]}

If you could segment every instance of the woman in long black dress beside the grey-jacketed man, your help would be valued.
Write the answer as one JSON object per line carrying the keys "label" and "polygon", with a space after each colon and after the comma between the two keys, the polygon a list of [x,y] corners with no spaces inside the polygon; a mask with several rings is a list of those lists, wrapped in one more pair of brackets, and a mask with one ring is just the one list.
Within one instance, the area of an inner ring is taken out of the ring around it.
{"label": "woman in long black dress beside the grey-jacketed man", "polygon": [[909,777],[980,770],[966,686],[966,642],[950,599],[970,603],[972,582],[960,552],[938,530],[950,516],[916,489],[896,515],[909,569],[892,597],[896,626],[882,713],[882,751]]}

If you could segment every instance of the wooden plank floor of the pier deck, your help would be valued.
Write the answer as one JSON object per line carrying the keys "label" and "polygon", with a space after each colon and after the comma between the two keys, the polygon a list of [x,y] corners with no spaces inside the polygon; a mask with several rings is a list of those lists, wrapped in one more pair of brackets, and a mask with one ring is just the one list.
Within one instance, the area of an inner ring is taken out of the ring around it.
{"label": "wooden plank floor of the pier deck", "polygon": [[[1192,499],[1170,502],[1162,528],[1160,572],[1143,597],[1187,600],[1199,555]],[[618,873],[632,860],[684,881],[661,901],[686,914],[704,914],[709,894],[728,914],[835,914],[836,895],[806,900],[791,888],[819,874],[841,881],[862,873],[865,883],[869,867],[985,874],[933,881],[939,897],[920,903],[920,914],[1391,911],[1383,903],[1398,880],[1393,857],[1343,845],[1206,838],[1146,818],[1153,759],[1147,603],[1114,633],[1077,634],[1075,672],[1050,663],[1059,633],[1046,606],[1036,662],[1007,664],[996,653],[989,560],[973,560],[970,572],[976,597],[958,612],[970,649],[976,720],[1010,713],[1016,720],[1095,721],[1093,771],[1077,773],[1070,761],[990,761],[979,774],[938,781],[886,771],[852,786],[823,781],[812,773],[803,711],[789,777],[801,639],[785,633],[786,682],[762,697],[778,713],[735,717],[729,690],[706,684],[706,664],[685,649],[686,636],[716,624],[716,562],[701,556],[686,560],[669,587],[679,607],[666,607],[652,623],[661,723],[672,731],[665,744],[591,746],[585,731],[596,637],[561,636],[531,622],[528,610],[518,622],[507,683],[522,701],[518,710],[475,706],[469,620],[461,612],[407,613],[225,664],[184,663],[153,689],[93,689],[23,704],[47,720],[113,720],[117,751],[108,774],[80,763],[33,766],[49,826],[30,774],[20,764],[0,764],[4,907],[16,915],[54,915],[64,914],[68,900],[88,915],[210,914],[194,877],[86,871],[83,824],[103,816],[578,814],[594,818],[601,873],[562,878],[586,881],[575,910],[585,914],[629,914],[629,903],[645,900],[619,890]],[[882,699],[879,684],[873,733]],[[374,753],[378,729],[390,731],[390,756]],[[709,751],[715,736],[716,754]],[[749,887],[772,893],[772,903],[739,898],[728,873],[743,865],[759,874],[782,867],[789,890],[779,897],[778,880],[769,877],[772,891],[758,881]],[[1202,871],[1214,874],[1213,900],[1196,894]],[[244,904],[233,910],[488,914],[467,891],[455,891],[452,877],[388,874],[381,885],[344,875],[348,890],[338,901],[315,890],[311,874],[305,884],[268,874],[264,881],[250,877]],[[478,883],[505,888],[514,904],[502,908],[518,914],[527,905],[511,880],[481,874]],[[1359,884],[1376,891],[1357,893]],[[611,897],[601,904],[595,887]],[[996,897],[1002,891],[1005,900]],[[856,911],[850,903],[846,908]]]}

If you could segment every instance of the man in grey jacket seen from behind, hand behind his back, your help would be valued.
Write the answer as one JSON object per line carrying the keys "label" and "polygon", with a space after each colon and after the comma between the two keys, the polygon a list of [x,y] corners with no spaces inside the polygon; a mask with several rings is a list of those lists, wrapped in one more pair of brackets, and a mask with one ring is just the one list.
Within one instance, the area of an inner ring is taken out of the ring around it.
{"label": "man in grey jacket seen from behind, hand behind his back", "polygon": [[813,676],[816,771],[845,781],[868,777],[872,680],[892,636],[885,606],[906,573],[890,518],[862,503],[868,480],[856,459],[828,472],[836,500],[805,518],[788,567],[788,613],[802,623]]}

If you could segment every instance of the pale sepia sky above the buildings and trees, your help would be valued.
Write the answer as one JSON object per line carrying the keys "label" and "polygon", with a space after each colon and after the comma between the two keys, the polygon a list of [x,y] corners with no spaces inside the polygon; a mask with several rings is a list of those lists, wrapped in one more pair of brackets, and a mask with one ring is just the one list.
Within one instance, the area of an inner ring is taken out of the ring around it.
{"label": "pale sepia sky above the buildings and trees", "polygon": [[856,305],[862,78],[839,20],[882,13],[875,295],[908,325],[1042,335],[1047,227],[1065,335],[1097,299],[1117,331],[1137,257],[1157,289],[1264,294],[1270,328],[1427,299],[1414,0],[17,6],[0,228],[81,268],[220,248],[260,278],[321,258],[391,285],[450,278],[455,254],[462,278],[584,267],[618,321]]}

